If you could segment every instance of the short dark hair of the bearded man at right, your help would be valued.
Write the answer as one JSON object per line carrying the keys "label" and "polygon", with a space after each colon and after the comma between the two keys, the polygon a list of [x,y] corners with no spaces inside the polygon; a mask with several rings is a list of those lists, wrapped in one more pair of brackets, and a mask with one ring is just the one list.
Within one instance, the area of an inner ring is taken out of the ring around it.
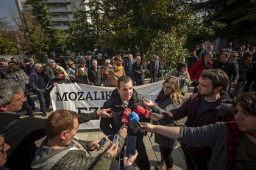
{"label": "short dark hair of the bearded man at right", "polygon": [[221,86],[222,89],[226,89],[230,85],[230,78],[227,76],[227,73],[224,70],[219,68],[203,70],[201,74],[202,79],[208,78],[213,83],[213,89],[217,86]]}

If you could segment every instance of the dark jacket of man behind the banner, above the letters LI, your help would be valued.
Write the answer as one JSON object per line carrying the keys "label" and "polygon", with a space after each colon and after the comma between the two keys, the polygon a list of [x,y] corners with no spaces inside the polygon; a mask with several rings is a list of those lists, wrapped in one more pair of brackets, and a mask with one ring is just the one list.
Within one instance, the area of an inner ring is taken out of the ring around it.
{"label": "dark jacket of man behind the banner, above the letters LI", "polygon": [[88,79],[90,84],[93,83],[95,86],[101,86],[101,84],[103,84],[102,68],[99,66],[97,68],[90,67],[88,69]]}

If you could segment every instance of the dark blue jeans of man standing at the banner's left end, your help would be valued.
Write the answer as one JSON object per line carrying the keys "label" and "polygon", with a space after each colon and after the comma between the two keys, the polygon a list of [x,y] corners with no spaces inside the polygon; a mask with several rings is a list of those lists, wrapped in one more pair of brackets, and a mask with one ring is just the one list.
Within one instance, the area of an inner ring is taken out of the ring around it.
{"label": "dark blue jeans of man standing at the banner's left end", "polygon": [[50,94],[46,89],[40,89],[37,92],[38,100],[40,104],[40,110],[43,113],[46,113],[46,109],[50,107]]}

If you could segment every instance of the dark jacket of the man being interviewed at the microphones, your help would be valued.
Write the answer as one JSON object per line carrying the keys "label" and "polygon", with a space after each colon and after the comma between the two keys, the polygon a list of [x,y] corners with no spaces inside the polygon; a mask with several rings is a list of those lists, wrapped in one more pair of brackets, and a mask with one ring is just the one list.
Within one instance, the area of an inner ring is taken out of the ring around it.
{"label": "dark jacket of the man being interviewed at the microphones", "polygon": [[[138,94],[133,89],[132,97],[129,100],[129,105],[128,105],[128,108],[130,108],[131,111],[135,111],[136,106],[143,106],[143,103],[142,103],[142,100],[140,100],[140,97],[141,95]],[[111,110],[115,112],[115,117],[101,118],[99,126],[101,127],[102,132],[106,136],[114,135],[118,133],[118,130],[122,125],[121,118],[123,116],[123,111],[124,111],[124,106],[121,102],[120,95],[118,95],[117,89],[113,90],[110,99],[108,99],[104,103],[103,108],[111,108]],[[140,117],[140,122],[149,122],[149,119],[143,118],[141,117],[141,115],[139,115],[139,117]],[[141,160],[141,158],[144,158],[146,156],[146,148],[145,148],[145,145],[143,144],[143,135],[140,133],[138,125],[132,124],[132,122],[129,122],[128,124],[127,135],[137,137],[136,149],[139,155],[135,162],[138,163]],[[145,167],[146,166],[147,165],[145,165]]]}

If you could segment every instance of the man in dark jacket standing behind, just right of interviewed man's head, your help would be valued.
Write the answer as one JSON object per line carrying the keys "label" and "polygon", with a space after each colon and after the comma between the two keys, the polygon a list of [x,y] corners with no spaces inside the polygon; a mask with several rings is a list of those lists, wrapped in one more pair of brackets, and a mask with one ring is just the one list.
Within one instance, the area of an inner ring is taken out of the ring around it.
{"label": "man in dark jacket standing behind, just right of interviewed man's head", "polygon": [[146,65],[141,62],[141,56],[136,56],[136,62],[132,64],[132,72],[133,78],[135,81],[135,86],[143,85],[145,74],[146,73]]}

